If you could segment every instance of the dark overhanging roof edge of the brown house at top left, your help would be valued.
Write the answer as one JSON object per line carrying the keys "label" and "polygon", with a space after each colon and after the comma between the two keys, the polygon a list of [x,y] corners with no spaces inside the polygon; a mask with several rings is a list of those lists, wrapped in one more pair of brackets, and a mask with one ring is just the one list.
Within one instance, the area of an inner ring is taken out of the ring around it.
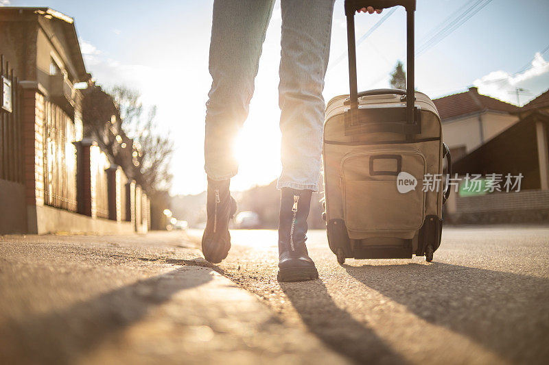
{"label": "dark overhanging roof edge of the brown house at top left", "polygon": [[[33,7],[15,7],[15,6],[1,6],[0,12],[23,12],[34,13],[38,16],[43,16],[49,20],[59,21],[62,25],[62,32],[65,33],[67,40],[69,41],[69,49],[67,50],[69,57],[73,60],[76,74],[74,77],[78,81],[87,81],[90,77],[86,72],[86,66],[84,65],[84,59],[82,58],[82,51],[80,50],[80,42],[78,42],[78,35],[76,34],[76,28],[74,25],[74,19],[68,15],[58,12],[57,10],[50,8],[33,8]],[[8,13],[10,14],[10,13]]]}

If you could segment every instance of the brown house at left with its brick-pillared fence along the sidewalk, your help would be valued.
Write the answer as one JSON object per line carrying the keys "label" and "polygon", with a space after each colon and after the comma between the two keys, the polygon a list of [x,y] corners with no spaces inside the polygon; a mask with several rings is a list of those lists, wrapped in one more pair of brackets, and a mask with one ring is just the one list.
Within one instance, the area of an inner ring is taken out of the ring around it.
{"label": "brown house at left with its brick-pillared fence along the sidewalk", "polygon": [[0,234],[146,231],[148,198],[83,138],[75,84],[90,75],[73,18],[49,8],[1,7],[0,54],[3,72],[16,75],[15,108],[2,110],[0,125],[12,141],[0,150]]}

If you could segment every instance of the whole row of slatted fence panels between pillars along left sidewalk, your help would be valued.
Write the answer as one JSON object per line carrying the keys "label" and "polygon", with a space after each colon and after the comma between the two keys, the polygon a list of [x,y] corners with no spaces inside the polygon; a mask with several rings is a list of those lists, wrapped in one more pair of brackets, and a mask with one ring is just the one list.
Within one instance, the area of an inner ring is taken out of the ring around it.
{"label": "whole row of slatted fence panels between pillars along left sidewalk", "polygon": [[[3,55],[0,56],[0,179],[22,184],[25,179],[22,116],[23,108],[27,107],[23,105],[19,79]],[[79,167],[81,161],[75,146],[74,121],[56,103],[42,99],[42,106],[42,143],[27,148],[33,149],[35,160],[43,162],[45,204],[71,212],[80,212],[78,205],[88,204],[91,205],[91,212],[83,214],[109,218],[108,156],[100,147],[93,145],[86,166]],[[34,108],[34,104],[29,105],[31,107]],[[79,168],[81,171],[78,171]],[[150,202],[141,187],[128,179],[121,168],[117,169],[116,201],[110,208],[116,210],[115,220],[133,222],[136,229],[146,231],[150,221]],[[83,175],[77,178],[77,173]],[[84,178],[89,179],[88,193],[84,192],[85,187],[79,193],[77,182]],[[135,216],[132,216],[132,212]]]}

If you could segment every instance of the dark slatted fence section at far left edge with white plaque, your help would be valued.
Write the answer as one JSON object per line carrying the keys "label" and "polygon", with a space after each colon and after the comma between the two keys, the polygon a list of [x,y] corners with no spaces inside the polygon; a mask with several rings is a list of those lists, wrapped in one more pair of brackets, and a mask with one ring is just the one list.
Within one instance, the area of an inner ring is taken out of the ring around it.
{"label": "dark slatted fence section at far left edge with white plaque", "polygon": [[23,127],[19,79],[0,56],[0,179],[23,183]]}

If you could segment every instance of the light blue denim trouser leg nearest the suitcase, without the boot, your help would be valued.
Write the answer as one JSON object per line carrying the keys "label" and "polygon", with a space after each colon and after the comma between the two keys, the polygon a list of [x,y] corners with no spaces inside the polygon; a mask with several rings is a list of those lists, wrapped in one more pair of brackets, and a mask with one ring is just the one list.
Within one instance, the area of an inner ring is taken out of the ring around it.
{"label": "light blue denim trouser leg nearest the suitcase, without the boot", "polygon": [[279,188],[318,190],[334,0],[282,0]]}

